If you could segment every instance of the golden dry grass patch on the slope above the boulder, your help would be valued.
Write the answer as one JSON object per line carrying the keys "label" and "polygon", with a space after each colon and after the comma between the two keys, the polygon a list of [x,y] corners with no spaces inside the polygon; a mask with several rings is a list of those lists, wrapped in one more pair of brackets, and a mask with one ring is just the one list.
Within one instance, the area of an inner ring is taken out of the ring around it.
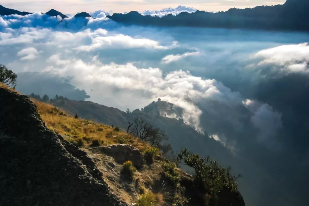
{"label": "golden dry grass patch on the slope above the boulder", "polygon": [[126,132],[116,131],[115,128],[108,125],[72,117],[53,105],[35,99],[32,99],[32,101],[36,104],[45,125],[75,145],[91,145],[93,141],[99,142],[101,145],[107,145],[124,143],[125,140],[125,143],[133,145],[141,151],[150,148],[147,143]]}

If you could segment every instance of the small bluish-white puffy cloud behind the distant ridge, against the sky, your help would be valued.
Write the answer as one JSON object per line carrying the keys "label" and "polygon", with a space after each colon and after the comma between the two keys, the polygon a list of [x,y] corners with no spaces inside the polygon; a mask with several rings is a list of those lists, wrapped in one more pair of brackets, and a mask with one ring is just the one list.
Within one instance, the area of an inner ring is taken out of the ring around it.
{"label": "small bluish-white puffy cloud behind the distant ridge, against the sky", "polygon": [[188,13],[192,13],[197,11],[197,9],[192,8],[192,7],[187,7],[187,6],[177,6],[176,8],[165,8],[162,10],[145,10],[140,12],[140,14],[142,15],[150,15],[150,16],[159,16],[159,17],[163,17],[165,15],[168,14],[172,14],[174,16],[180,14],[181,12],[188,12]]}

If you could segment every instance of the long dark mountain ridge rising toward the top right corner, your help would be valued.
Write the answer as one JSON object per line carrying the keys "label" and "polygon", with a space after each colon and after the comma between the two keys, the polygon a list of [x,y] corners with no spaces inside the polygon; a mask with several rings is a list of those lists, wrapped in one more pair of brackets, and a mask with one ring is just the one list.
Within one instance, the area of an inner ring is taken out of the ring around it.
{"label": "long dark mountain ridge rising toward the top right corner", "polygon": [[309,30],[309,1],[287,0],[283,5],[256,6],[254,8],[231,8],[225,12],[211,13],[196,11],[182,12],[177,16],[166,15],[162,18],[144,16],[137,11],[127,14],[107,16],[125,25],[151,26],[188,26],[188,27],[222,27],[248,28],[264,30]]}

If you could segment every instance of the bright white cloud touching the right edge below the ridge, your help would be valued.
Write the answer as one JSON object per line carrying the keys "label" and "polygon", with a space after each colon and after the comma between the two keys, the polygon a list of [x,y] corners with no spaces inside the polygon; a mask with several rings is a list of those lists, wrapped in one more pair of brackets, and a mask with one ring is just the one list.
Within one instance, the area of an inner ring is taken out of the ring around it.
{"label": "bright white cloud touching the right edge below the ridge", "polygon": [[262,60],[260,65],[276,65],[285,73],[308,73],[309,72],[309,45],[308,43],[282,45],[262,50],[255,54]]}

